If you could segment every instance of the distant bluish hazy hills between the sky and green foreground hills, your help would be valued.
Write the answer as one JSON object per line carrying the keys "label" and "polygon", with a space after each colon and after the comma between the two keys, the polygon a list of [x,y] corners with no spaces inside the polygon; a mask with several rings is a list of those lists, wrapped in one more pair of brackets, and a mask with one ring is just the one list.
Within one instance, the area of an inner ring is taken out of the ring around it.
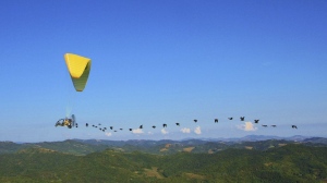
{"label": "distant bluish hazy hills between the sky and green foreground hills", "polygon": [[26,143],[15,144],[12,142],[0,142],[0,154],[12,154],[24,148],[47,148],[60,152],[72,155],[87,155],[90,152],[102,151],[107,148],[122,152],[143,151],[154,155],[173,155],[177,152],[192,154],[217,154],[229,148],[235,149],[253,149],[267,150],[278,148],[289,144],[303,144],[305,146],[326,147],[327,138],[307,138],[302,142],[286,139],[266,139],[256,142],[221,142],[221,141],[96,141],[96,139],[68,139],[64,142],[44,142],[44,143]]}

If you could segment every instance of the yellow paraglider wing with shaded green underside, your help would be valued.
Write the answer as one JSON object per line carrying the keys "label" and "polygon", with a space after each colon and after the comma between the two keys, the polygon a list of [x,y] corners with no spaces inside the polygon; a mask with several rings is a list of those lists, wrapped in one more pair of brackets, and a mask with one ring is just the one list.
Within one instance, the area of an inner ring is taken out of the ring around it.
{"label": "yellow paraglider wing with shaded green underside", "polygon": [[90,59],[73,53],[65,53],[64,60],[76,91],[83,91],[90,70]]}

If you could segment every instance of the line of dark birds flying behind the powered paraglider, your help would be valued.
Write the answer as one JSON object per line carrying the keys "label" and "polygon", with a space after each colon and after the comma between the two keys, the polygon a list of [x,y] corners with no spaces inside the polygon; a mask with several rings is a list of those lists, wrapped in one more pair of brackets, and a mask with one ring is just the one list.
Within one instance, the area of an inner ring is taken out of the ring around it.
{"label": "line of dark birds flying behind the powered paraglider", "polygon": [[[228,120],[233,120],[233,118],[231,117],[231,118],[228,118]],[[241,121],[244,121],[245,120],[245,117],[240,117],[240,120]],[[193,120],[194,121],[194,123],[197,123],[197,120],[196,119],[194,119]],[[214,120],[215,121],[215,123],[218,123],[218,119],[215,119]],[[258,119],[256,119],[256,120],[254,120],[254,123],[255,124],[257,124],[259,122],[259,120]],[[88,123],[86,123],[85,124],[85,126],[86,127],[88,127]],[[174,123],[174,125],[177,125],[177,126],[180,126],[181,124],[180,123]],[[167,127],[168,125],[166,124],[166,123],[164,123],[162,124],[162,127]],[[262,124],[262,126],[263,127],[268,127],[268,125],[267,124]],[[270,125],[271,127],[277,127],[277,125],[275,125],[275,124],[272,124],[272,125]],[[78,127],[78,124],[77,123],[75,123],[75,127]],[[100,131],[102,131],[102,132],[106,132],[108,129],[107,127],[105,127],[105,126],[102,126],[101,125],[101,123],[99,123],[98,125],[95,125],[95,124],[92,124],[92,127],[95,127],[95,129],[98,129],[98,130],[100,130]],[[152,126],[153,129],[156,129],[157,126],[156,125],[153,125]],[[118,132],[118,131],[123,131],[123,129],[113,129],[113,126],[110,126],[109,127],[111,131],[113,131],[113,132]],[[142,125],[140,125],[140,127],[138,129],[143,129],[143,124]],[[296,125],[292,125],[292,129],[298,129],[298,126]],[[133,131],[133,129],[129,129],[129,131]]]}

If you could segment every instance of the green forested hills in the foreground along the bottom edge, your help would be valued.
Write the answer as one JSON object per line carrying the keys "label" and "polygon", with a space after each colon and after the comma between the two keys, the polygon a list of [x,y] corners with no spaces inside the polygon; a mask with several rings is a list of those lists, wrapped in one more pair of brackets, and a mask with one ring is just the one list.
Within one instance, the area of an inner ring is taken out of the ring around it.
{"label": "green forested hills in the foreground along the bottom edge", "polygon": [[327,147],[152,155],[107,149],[76,156],[47,148],[0,155],[0,182],[326,182]]}

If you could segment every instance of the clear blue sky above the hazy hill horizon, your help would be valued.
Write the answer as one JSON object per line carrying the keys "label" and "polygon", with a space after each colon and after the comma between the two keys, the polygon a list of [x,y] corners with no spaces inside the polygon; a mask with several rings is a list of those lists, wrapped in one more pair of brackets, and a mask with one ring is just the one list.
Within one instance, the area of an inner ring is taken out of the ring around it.
{"label": "clear blue sky above the hazy hill horizon", "polygon": [[[324,0],[0,1],[0,141],[326,136],[326,10]],[[83,93],[66,52],[93,61]],[[68,110],[80,127],[55,127]]]}

